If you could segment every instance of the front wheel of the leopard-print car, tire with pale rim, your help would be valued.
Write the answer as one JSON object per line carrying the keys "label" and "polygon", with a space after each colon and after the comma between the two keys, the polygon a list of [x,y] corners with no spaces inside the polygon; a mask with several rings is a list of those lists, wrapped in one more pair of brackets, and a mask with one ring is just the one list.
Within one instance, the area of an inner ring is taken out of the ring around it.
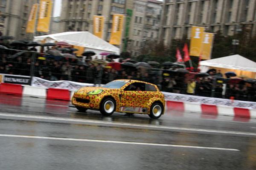
{"label": "front wheel of the leopard-print car, tire with pale rim", "polygon": [[110,116],[116,111],[116,102],[111,98],[103,99],[99,108],[100,113],[104,116]]}

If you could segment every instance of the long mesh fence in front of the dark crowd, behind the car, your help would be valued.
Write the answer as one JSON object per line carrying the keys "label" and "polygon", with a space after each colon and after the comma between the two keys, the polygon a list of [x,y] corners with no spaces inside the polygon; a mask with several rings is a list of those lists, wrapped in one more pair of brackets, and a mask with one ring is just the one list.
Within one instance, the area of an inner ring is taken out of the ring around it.
{"label": "long mesh fence in front of the dark crowd, behind the car", "polygon": [[117,71],[106,61],[53,57],[33,51],[0,50],[0,73],[47,80],[106,84],[114,79],[137,79],[156,84],[161,91],[256,102],[256,83],[204,77],[160,68],[123,67]]}

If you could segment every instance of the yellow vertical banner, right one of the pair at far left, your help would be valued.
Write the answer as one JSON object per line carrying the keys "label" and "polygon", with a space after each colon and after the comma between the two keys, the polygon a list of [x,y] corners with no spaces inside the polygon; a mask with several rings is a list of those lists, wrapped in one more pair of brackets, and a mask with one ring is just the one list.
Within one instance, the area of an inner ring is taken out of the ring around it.
{"label": "yellow vertical banner, right one of the pair at far left", "polygon": [[52,14],[52,0],[40,0],[37,31],[49,32]]}

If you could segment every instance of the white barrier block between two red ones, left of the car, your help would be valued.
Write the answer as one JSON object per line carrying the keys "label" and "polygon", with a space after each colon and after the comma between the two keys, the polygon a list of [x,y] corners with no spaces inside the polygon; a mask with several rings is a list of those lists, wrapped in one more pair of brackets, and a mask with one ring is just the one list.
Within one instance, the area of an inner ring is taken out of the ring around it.
{"label": "white barrier block between two red ones, left of the car", "polygon": [[24,86],[23,96],[46,98],[46,88]]}

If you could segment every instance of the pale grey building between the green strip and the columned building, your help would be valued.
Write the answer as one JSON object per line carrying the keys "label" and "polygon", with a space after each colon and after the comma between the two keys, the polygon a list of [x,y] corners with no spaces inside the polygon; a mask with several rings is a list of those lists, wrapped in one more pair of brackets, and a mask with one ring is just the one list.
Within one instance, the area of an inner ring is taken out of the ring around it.
{"label": "pale grey building between the green strip and the columned building", "polygon": [[146,41],[158,39],[162,2],[158,0],[135,0],[131,22],[128,51],[137,56]]}

